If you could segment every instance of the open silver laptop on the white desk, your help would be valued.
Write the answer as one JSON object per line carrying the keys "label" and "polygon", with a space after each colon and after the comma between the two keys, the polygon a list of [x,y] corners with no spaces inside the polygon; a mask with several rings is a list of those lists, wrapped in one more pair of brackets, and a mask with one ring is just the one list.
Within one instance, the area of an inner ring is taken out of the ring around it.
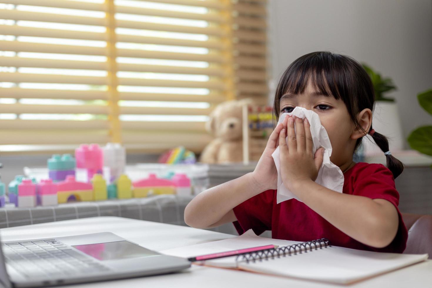
{"label": "open silver laptop on the white desk", "polygon": [[0,286],[6,288],[132,278],[191,266],[187,259],[160,254],[110,232],[1,242],[1,248]]}

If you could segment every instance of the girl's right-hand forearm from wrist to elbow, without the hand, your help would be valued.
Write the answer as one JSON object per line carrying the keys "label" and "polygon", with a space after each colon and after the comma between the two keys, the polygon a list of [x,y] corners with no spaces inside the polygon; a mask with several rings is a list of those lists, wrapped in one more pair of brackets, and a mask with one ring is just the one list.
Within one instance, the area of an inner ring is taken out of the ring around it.
{"label": "girl's right-hand forearm from wrist to elbow, without the hand", "polygon": [[338,193],[312,180],[295,182],[291,188],[331,225],[365,245],[386,247],[396,236],[397,210],[385,199]]}

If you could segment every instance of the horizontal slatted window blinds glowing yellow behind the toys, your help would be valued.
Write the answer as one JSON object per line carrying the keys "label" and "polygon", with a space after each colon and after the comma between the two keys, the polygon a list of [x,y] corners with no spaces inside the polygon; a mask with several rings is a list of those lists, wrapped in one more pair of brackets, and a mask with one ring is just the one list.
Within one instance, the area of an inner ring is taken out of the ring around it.
{"label": "horizontal slatted window blinds glowing yellow behind the toys", "polygon": [[0,0],[0,151],[200,152],[218,103],[267,102],[266,1]]}

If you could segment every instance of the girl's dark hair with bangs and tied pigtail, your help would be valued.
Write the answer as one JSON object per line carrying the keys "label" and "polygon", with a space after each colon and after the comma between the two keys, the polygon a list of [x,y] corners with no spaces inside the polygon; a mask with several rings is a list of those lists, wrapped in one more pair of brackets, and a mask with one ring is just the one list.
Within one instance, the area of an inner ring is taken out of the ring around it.
{"label": "girl's dark hair with bangs and tied pigtail", "polygon": [[[336,99],[342,99],[354,125],[363,130],[357,120],[357,114],[365,108],[373,111],[375,92],[372,81],[360,63],[346,55],[328,51],[312,52],[299,57],[291,63],[281,76],[276,88],[273,112],[280,113],[280,98],[286,93],[302,94],[311,78],[317,92]],[[369,133],[372,130],[372,125]],[[388,151],[388,139],[378,133],[372,133],[372,139],[383,152]],[[357,139],[356,148],[362,138]],[[403,164],[392,155],[386,155],[387,167],[396,178],[403,171]]]}

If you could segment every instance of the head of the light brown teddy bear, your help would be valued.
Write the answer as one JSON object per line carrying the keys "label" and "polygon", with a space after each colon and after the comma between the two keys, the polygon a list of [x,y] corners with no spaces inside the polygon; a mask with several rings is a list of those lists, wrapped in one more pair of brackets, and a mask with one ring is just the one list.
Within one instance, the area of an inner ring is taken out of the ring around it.
{"label": "head of the light brown teddy bear", "polygon": [[224,141],[241,140],[242,109],[244,105],[252,104],[251,99],[226,101],[216,106],[210,113],[206,129],[216,138]]}

